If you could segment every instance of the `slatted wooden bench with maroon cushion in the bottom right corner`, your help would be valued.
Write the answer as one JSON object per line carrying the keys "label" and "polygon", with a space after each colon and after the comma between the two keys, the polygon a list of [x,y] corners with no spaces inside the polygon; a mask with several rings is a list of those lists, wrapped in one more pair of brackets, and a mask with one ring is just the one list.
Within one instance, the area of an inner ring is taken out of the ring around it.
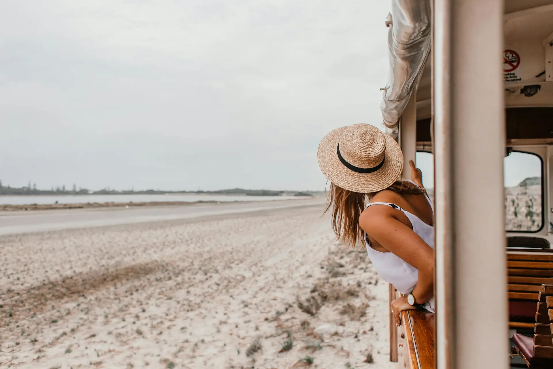
{"label": "slatted wooden bench with maroon cushion in the bottom right corner", "polygon": [[529,368],[553,368],[553,319],[549,318],[549,315],[553,318],[553,309],[544,310],[550,297],[553,298],[553,285],[541,285],[534,337],[520,333],[513,335],[513,354],[520,355]]}

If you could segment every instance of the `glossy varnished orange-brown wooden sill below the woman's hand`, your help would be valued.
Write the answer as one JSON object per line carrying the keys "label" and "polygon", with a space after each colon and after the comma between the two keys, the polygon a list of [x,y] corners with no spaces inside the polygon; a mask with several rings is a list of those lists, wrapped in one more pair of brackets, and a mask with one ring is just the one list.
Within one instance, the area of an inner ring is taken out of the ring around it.
{"label": "glossy varnished orange-brown wooden sill below the woman's hand", "polygon": [[406,365],[410,369],[434,369],[435,314],[425,310],[401,311]]}

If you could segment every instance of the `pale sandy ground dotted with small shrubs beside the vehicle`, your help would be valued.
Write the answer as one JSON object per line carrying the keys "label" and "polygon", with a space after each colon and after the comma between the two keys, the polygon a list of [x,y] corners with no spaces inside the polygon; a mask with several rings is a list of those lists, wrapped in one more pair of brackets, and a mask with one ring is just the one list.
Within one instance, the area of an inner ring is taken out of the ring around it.
{"label": "pale sandy ground dotted with small shrubs beside the vehicle", "polygon": [[388,285],[322,210],[0,236],[0,367],[395,367]]}

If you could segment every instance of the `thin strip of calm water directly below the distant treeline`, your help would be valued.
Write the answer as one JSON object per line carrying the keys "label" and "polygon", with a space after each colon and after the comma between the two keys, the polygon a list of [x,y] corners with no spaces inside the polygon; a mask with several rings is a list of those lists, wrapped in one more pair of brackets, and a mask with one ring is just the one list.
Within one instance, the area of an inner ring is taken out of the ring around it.
{"label": "thin strip of calm water directly below the distant treeline", "polygon": [[87,202],[148,202],[148,201],[267,201],[304,199],[299,196],[246,196],[246,195],[43,195],[43,196],[0,196],[0,205],[24,204],[86,204]]}

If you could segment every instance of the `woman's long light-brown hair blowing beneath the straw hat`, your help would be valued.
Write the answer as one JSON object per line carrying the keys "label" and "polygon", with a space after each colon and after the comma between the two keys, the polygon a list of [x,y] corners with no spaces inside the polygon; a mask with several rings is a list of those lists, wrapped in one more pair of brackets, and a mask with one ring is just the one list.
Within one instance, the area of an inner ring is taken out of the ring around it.
{"label": "woman's long light-brown hair blowing beneath the straw hat", "polygon": [[[424,190],[418,186],[409,181],[401,180],[395,181],[385,190],[405,195],[424,194]],[[359,227],[359,216],[365,209],[365,196],[368,196],[370,199],[376,194],[348,191],[333,183],[330,184],[325,214],[332,207],[332,230],[336,233],[336,240],[342,241],[352,247],[355,247],[358,240],[363,245],[365,244],[363,230]]]}

